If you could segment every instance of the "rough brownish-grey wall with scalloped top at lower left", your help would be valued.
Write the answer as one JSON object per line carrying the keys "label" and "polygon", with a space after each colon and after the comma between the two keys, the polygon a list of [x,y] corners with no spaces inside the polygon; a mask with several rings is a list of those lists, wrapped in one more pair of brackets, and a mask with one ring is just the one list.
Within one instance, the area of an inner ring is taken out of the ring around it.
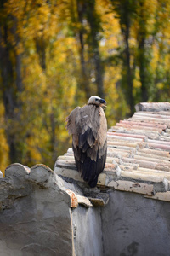
{"label": "rough brownish-grey wall with scalloped top at lower left", "polygon": [[72,255],[69,196],[53,173],[20,166],[0,180],[0,255]]}

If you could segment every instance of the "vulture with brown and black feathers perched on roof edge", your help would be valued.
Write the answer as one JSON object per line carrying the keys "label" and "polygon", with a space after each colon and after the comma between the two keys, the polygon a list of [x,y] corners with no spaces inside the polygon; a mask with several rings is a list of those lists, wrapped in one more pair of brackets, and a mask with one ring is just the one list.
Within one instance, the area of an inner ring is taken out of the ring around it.
{"label": "vulture with brown and black feathers perched on roof edge", "polygon": [[72,135],[72,149],[78,172],[91,188],[104,170],[107,154],[107,121],[103,108],[106,102],[91,96],[88,104],[77,107],[67,117],[66,128]]}

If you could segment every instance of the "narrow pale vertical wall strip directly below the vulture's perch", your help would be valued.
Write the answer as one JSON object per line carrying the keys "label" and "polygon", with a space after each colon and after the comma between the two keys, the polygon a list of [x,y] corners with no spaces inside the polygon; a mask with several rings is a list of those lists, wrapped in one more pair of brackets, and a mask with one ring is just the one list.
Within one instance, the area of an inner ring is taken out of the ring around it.
{"label": "narrow pale vertical wall strip directly below the vulture's perch", "polygon": [[103,256],[100,207],[77,207],[72,211],[74,245],[77,256]]}

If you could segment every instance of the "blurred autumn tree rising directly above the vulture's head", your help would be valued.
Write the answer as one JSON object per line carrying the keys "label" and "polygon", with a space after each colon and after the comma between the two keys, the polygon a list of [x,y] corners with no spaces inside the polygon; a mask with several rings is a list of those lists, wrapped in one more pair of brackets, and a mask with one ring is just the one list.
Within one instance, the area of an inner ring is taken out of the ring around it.
{"label": "blurred autumn tree rising directly above the vulture's head", "polygon": [[104,97],[104,67],[99,52],[99,33],[102,31],[96,2],[71,1],[69,26],[75,33],[80,54],[82,79],[80,84],[86,99],[98,94]]}

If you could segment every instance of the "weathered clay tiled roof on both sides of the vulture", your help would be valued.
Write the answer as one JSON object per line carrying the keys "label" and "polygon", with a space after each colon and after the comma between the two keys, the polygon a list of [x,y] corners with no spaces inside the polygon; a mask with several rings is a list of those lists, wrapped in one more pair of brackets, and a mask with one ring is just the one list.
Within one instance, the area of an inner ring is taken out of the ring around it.
{"label": "weathered clay tiled roof on both sides of the vulture", "polygon": [[[139,103],[136,110],[109,129],[98,186],[170,201],[170,103]],[[83,183],[71,148],[58,158],[54,172]]]}

